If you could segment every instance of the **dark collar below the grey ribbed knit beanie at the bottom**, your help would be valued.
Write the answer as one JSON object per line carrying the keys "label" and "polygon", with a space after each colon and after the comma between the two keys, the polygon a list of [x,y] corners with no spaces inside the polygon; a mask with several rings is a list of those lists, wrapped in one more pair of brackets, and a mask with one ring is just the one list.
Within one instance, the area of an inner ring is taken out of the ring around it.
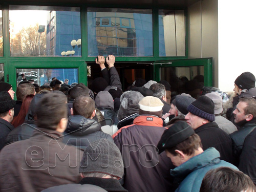
{"label": "dark collar below the grey ribbed knit beanie at the bottom", "polygon": [[97,178],[97,177],[84,177],[79,184],[92,184],[97,185],[107,191],[123,191],[127,192],[124,189],[117,179],[106,179],[106,178]]}

